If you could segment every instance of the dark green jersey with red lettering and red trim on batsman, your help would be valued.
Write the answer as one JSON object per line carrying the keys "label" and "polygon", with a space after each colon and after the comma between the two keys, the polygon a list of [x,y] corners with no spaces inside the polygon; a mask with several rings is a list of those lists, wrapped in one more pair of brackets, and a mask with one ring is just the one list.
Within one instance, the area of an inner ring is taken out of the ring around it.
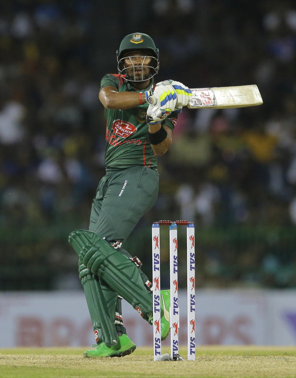
{"label": "dark green jersey with red lettering and red trim on batsman", "polygon": [[[101,81],[101,88],[112,85],[119,92],[144,92],[154,88],[153,78],[147,88],[136,90],[130,82],[119,74],[107,74]],[[106,168],[127,168],[145,166],[156,168],[157,157],[148,141],[148,124],[146,112],[148,104],[127,110],[106,109]],[[171,113],[161,123],[171,130],[177,122],[177,113]]]}

